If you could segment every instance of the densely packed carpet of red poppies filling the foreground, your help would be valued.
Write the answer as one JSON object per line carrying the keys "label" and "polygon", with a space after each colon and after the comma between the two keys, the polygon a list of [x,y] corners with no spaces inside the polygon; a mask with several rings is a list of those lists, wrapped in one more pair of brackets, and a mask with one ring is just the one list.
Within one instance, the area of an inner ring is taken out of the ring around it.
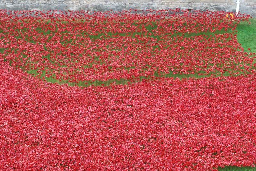
{"label": "densely packed carpet of red poppies filling the foreground", "polygon": [[0,60],[1,170],[256,163],[255,75],[81,88],[44,84]]}

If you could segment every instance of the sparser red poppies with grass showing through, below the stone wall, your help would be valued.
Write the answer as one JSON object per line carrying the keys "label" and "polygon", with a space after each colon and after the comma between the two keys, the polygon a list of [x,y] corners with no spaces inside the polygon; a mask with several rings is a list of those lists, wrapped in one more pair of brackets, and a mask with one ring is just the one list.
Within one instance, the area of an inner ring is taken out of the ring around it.
{"label": "sparser red poppies with grass showing through, below the stone wall", "polygon": [[43,79],[78,83],[135,81],[155,73],[216,76],[255,72],[256,57],[244,53],[234,32],[221,32],[234,31],[248,15],[231,21],[225,12],[212,12],[209,24],[208,12],[175,13],[178,10],[93,15],[84,11],[1,12],[4,58],[12,66],[36,70]]}

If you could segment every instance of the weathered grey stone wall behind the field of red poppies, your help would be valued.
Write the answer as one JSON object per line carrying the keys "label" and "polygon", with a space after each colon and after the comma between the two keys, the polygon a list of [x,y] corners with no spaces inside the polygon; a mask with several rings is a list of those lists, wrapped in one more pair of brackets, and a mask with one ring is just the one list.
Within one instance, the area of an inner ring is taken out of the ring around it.
{"label": "weathered grey stone wall behind the field of red poppies", "polygon": [[[237,0],[211,0],[215,11],[236,12]],[[90,10],[122,11],[129,9],[204,9],[209,0],[0,0],[0,9],[7,10]],[[240,0],[240,13],[256,17],[256,0]]]}

